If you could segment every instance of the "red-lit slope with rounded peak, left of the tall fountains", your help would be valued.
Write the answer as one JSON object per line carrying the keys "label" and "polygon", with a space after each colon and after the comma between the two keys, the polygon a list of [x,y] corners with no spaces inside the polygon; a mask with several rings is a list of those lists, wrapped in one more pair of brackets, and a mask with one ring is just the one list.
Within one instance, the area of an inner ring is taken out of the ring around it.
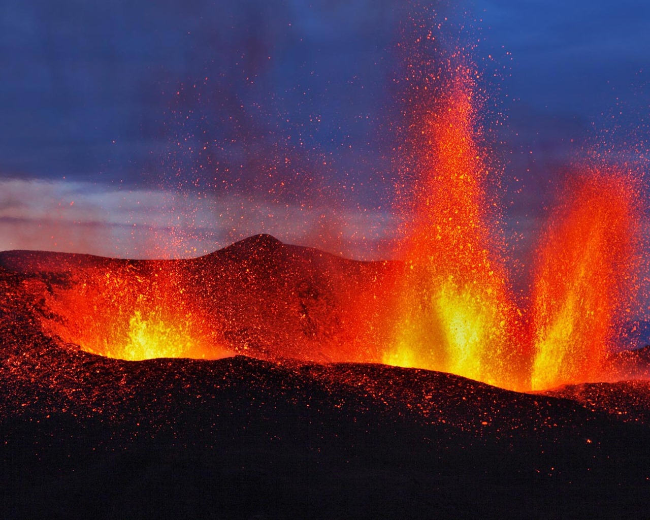
{"label": "red-lit slope with rounded peak, left of the tall fountains", "polygon": [[360,338],[349,331],[361,328],[351,322],[374,310],[365,305],[362,312],[356,303],[372,301],[379,290],[374,280],[386,265],[288,246],[268,235],[175,261],[0,253],[0,266],[21,277],[44,330],[64,343],[126,359],[164,357],[162,344],[157,356],[114,344],[122,338],[138,350],[138,334],[156,331],[166,340],[161,343],[199,346],[169,357],[360,360],[354,354]]}

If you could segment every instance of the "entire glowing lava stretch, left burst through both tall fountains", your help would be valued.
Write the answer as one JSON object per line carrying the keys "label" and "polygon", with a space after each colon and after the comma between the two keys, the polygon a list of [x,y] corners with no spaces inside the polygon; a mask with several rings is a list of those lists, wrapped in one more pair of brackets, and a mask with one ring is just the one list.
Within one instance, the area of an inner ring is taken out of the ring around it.
{"label": "entire glowing lava stretch, left burst through both tall fountains", "polygon": [[413,76],[426,84],[413,99],[426,101],[411,107],[400,262],[344,261],[259,235],[190,261],[101,259],[49,278],[40,268],[25,283],[44,330],[128,360],[382,362],[516,390],[611,378],[614,328],[636,285],[638,186],[620,168],[571,177],[519,308],[489,196],[498,184],[482,148],[482,92],[466,63],[452,54],[448,75]]}

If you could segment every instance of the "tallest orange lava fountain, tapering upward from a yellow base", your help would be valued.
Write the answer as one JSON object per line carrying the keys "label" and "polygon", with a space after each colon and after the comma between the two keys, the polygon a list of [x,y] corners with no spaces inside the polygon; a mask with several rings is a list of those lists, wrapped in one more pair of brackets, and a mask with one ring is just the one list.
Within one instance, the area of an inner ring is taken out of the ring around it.
{"label": "tallest orange lava fountain, tapering upward from a yellow base", "polygon": [[422,124],[408,268],[396,283],[393,346],[382,361],[519,388],[525,345],[489,226],[496,216],[476,144],[472,68],[458,67],[444,91]]}

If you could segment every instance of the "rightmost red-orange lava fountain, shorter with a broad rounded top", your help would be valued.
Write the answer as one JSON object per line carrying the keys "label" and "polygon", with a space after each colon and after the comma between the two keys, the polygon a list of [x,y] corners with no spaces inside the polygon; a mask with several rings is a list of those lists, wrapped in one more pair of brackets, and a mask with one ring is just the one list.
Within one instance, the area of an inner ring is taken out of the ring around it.
{"label": "rightmost red-orange lava fountain, shorter with a broad rounded top", "polygon": [[533,389],[608,379],[604,356],[634,294],[634,184],[624,172],[583,168],[549,221],[532,294]]}

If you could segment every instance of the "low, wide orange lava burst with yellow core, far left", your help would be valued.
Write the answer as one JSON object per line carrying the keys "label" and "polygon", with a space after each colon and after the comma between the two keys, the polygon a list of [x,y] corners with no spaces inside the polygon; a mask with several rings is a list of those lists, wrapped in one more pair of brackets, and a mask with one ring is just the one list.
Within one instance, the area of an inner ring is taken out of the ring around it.
{"label": "low, wide orange lava burst with yellow core, far left", "polygon": [[47,299],[61,318],[44,320],[44,327],[86,352],[129,361],[226,356],[211,320],[170,267],[161,261],[146,273],[130,264],[80,270],[73,289]]}

